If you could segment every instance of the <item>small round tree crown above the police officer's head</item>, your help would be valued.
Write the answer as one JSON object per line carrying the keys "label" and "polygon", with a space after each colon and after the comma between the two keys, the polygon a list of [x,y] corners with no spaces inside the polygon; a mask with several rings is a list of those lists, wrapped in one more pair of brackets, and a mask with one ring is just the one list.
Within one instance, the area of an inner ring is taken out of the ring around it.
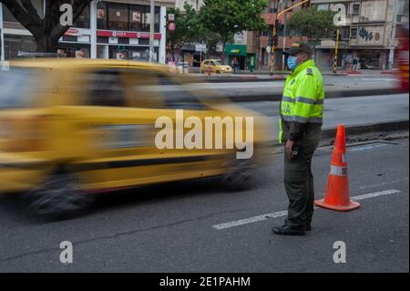
{"label": "small round tree crown above the police officer's head", "polygon": [[310,7],[305,10],[294,12],[288,20],[288,27],[292,34],[307,36],[311,44],[319,41],[323,37],[330,37],[336,29],[333,24],[333,16],[336,12],[327,10],[317,10]]}

